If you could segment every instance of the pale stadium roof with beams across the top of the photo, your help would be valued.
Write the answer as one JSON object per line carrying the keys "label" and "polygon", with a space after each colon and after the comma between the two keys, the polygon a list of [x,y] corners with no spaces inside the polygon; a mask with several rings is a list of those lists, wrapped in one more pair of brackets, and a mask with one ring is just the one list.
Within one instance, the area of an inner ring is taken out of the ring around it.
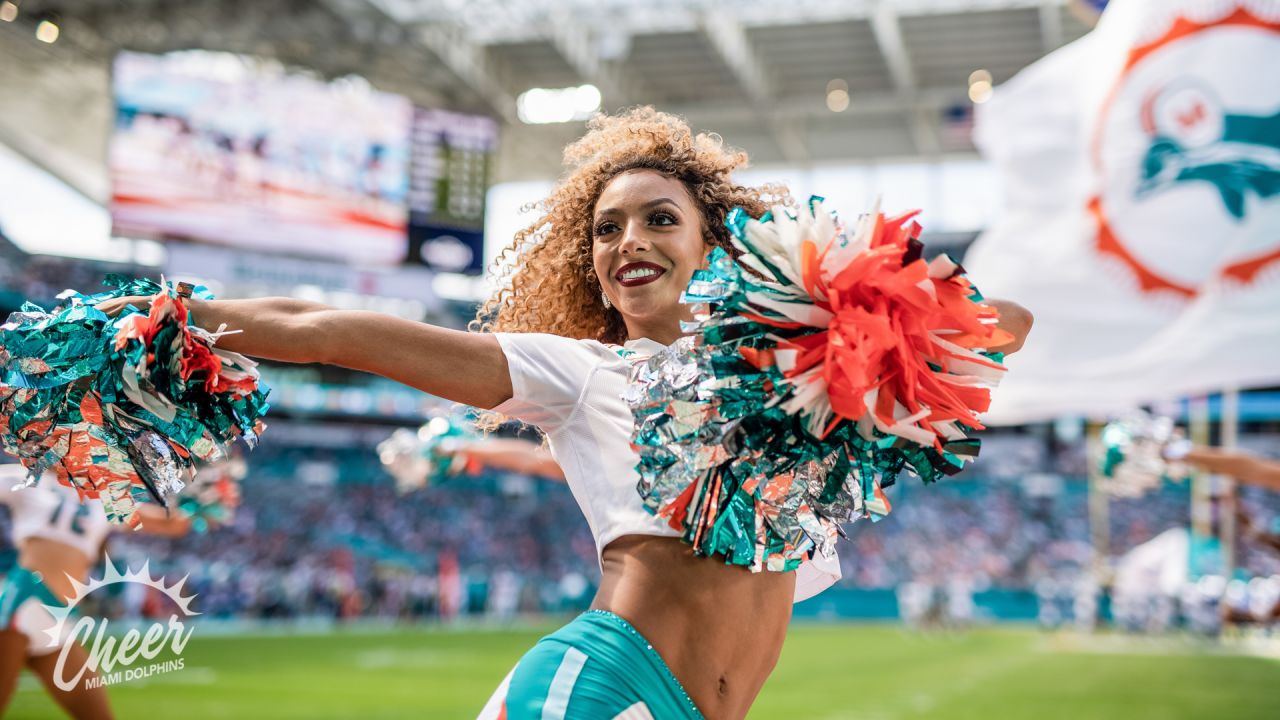
{"label": "pale stadium roof with beams across the top of the photo", "polygon": [[[970,73],[1000,83],[1087,28],[1068,0],[26,0],[0,22],[0,142],[105,196],[109,68],[120,49],[204,47],[361,74],[506,123],[498,177],[558,173],[581,123],[526,126],[531,87],[591,83],[654,104],[756,164],[972,151]],[[61,32],[35,37],[52,17]],[[829,83],[849,105],[828,109]]]}

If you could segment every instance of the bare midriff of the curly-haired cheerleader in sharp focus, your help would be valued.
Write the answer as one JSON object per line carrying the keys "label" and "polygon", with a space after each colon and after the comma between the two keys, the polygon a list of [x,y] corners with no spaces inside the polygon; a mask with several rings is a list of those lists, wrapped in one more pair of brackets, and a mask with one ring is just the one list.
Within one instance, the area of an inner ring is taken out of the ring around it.
{"label": "bare midriff of the curly-haired cheerleader in sharp focus", "polygon": [[782,652],[795,573],[751,573],[652,536],[611,542],[602,565],[591,607],[635,625],[704,716],[745,717]]}

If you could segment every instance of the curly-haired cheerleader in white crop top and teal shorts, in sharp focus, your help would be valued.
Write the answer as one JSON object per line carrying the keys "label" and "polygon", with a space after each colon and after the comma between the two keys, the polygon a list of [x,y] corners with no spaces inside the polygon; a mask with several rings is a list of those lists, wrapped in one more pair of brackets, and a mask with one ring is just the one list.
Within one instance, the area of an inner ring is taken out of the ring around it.
{"label": "curly-haired cheerleader in white crop top and teal shorts, in sharp focus", "polygon": [[[506,251],[508,274],[460,332],[293,299],[187,300],[205,328],[242,331],[221,347],[375,373],[539,427],[595,537],[591,609],[520,660],[485,717],[744,717],[769,676],[791,605],[829,587],[838,562],[751,573],[695,556],[636,492],[637,359],[681,337],[680,302],[713,247],[731,250],[727,213],[763,215],[776,188],[736,184],[746,155],[641,108],[596,117],[564,152],[570,173]],[[118,311],[146,299],[120,299]],[[1009,302],[1000,327],[1021,345],[1030,315]]]}

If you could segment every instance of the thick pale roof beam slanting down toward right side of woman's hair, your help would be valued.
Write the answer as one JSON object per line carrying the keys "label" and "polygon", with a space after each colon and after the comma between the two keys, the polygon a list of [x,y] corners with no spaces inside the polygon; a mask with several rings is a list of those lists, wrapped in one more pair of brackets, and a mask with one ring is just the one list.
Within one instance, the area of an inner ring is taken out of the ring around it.
{"label": "thick pale roof beam slanting down toward right side of woman's hair", "polygon": [[750,99],[756,115],[772,133],[782,156],[790,163],[808,163],[809,149],[805,146],[795,120],[782,120],[773,109],[773,92],[769,88],[768,73],[759,56],[751,50],[746,28],[736,18],[719,8],[703,15],[703,36],[707,37],[716,55],[728,67],[739,86]]}

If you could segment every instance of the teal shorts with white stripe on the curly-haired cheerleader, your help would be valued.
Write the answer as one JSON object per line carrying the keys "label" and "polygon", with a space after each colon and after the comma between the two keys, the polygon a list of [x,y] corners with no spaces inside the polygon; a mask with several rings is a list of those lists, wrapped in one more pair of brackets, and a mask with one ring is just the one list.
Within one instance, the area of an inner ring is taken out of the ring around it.
{"label": "teal shorts with white stripe on the curly-haired cheerleader", "polygon": [[512,670],[506,720],[701,720],[658,651],[622,618],[589,610]]}

